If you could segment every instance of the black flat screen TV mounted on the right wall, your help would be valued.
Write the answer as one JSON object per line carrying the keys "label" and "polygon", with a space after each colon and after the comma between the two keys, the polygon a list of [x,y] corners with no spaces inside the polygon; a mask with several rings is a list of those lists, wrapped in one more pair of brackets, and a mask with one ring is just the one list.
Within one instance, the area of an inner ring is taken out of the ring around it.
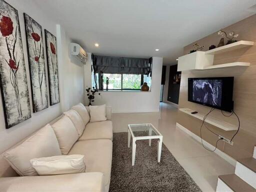
{"label": "black flat screen TV mounted on the right wall", "polygon": [[233,80],[233,76],[188,78],[188,101],[231,112]]}

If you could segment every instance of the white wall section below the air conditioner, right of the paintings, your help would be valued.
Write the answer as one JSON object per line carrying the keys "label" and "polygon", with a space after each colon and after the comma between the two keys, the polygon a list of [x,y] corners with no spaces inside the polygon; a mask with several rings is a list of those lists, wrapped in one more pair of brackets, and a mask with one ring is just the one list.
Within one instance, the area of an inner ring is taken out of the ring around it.
{"label": "white wall section below the air conditioner, right of the paintings", "polygon": [[70,42],[63,27],[57,24],[57,54],[59,63],[60,99],[63,111],[72,105],[83,102],[84,98],[84,64],[70,54]]}

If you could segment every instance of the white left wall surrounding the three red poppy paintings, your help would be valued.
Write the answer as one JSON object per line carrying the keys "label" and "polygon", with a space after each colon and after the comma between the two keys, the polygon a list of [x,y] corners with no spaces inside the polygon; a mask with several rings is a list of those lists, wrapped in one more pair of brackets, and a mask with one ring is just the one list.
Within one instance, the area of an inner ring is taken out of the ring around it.
{"label": "white left wall surrounding the three red poppy paintings", "polygon": [[[27,13],[31,16],[34,20],[36,20],[41,26],[42,29],[46,28],[52,34],[56,34],[56,22],[53,18],[47,17],[39,7],[37,7],[33,0],[6,0],[9,4],[15,7],[18,10],[19,14],[19,24],[21,30],[21,37],[22,37],[22,45],[24,51],[24,60],[25,60],[25,67],[26,67],[26,75],[27,75],[27,82],[28,82],[28,91],[29,91],[29,99],[30,99],[30,107],[31,107],[31,118],[21,122],[9,129],[5,129],[4,124],[4,114],[3,114],[3,106],[2,101],[0,99],[0,153],[18,142],[19,140],[25,138],[41,126],[45,125],[50,120],[54,119],[58,115],[61,114],[62,110],[65,107],[70,106],[74,103],[83,101],[83,65],[75,64],[78,63],[73,61],[68,56],[60,59],[61,62],[58,63],[59,67],[59,83],[60,83],[60,93],[62,93],[62,89],[66,92],[69,92],[68,97],[64,97],[62,99],[63,94],[60,94],[60,102],[53,106],[49,106],[48,108],[32,113],[32,101],[31,101],[31,89],[30,89],[30,78],[29,78],[29,70],[28,70],[28,60],[27,60],[27,51],[26,51],[26,39],[25,39],[25,28],[24,28],[24,19],[23,19],[23,12]],[[64,31],[62,31],[64,33]],[[43,31],[43,39],[44,39],[44,31]],[[57,39],[59,36],[57,35]],[[64,44],[63,48],[57,46],[57,54],[58,58],[63,55],[68,55],[67,51],[67,42],[70,41],[68,37],[61,38],[62,44]],[[57,42],[57,44],[59,41]],[[61,55],[59,50],[63,51]],[[44,41],[44,56],[45,56],[45,69],[46,67],[46,51],[45,51],[45,41]],[[65,53],[66,52],[66,53]],[[65,66],[65,67],[64,67]],[[66,67],[67,66],[67,67]],[[62,68],[68,68],[68,70],[63,70]],[[47,70],[46,70],[47,75]],[[48,80],[47,76],[46,79]],[[62,80],[65,79],[65,82]],[[64,83],[69,82],[72,86],[65,87]],[[79,86],[79,87],[78,87]],[[47,82],[48,87],[48,82]],[[67,88],[67,89],[66,89]],[[49,99],[49,90],[48,90],[48,99]],[[65,100],[65,104],[63,101]],[[49,100],[48,100],[49,103]],[[62,109],[62,107],[63,109]]]}

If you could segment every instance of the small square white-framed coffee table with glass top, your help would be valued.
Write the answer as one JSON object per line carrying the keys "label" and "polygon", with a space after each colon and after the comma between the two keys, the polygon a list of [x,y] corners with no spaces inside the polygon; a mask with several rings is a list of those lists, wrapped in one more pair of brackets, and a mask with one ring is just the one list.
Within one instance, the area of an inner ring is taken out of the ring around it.
{"label": "small square white-framed coffee table with glass top", "polygon": [[148,145],[151,146],[151,139],[158,139],[157,162],[160,162],[162,135],[151,123],[128,124],[128,148],[130,147],[130,136],[132,137],[132,166],[134,165],[135,162],[136,140],[148,139]]}

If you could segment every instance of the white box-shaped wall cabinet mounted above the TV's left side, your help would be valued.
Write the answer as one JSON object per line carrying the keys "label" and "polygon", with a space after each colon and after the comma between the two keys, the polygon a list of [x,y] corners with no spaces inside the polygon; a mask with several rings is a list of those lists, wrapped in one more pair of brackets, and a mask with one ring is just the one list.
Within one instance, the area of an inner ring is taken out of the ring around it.
{"label": "white box-shaped wall cabinet mounted above the TV's left side", "polygon": [[196,51],[178,57],[177,71],[204,69],[213,64],[214,55],[205,54],[204,51]]}

